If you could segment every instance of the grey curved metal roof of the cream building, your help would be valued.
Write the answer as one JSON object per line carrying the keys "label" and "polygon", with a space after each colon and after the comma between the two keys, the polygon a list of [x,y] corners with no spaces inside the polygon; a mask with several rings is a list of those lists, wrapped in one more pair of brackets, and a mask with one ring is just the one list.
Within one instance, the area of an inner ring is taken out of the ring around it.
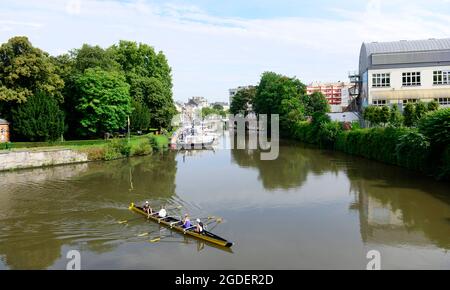
{"label": "grey curved metal roof of the cream building", "polygon": [[363,43],[359,71],[450,64],[450,38]]}

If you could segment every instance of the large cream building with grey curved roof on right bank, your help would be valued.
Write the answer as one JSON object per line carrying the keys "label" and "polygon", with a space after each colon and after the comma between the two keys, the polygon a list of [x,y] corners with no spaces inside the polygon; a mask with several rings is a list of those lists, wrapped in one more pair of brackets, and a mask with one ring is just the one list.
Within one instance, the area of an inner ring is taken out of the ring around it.
{"label": "large cream building with grey curved roof on right bank", "polygon": [[436,100],[450,105],[450,38],[363,43],[359,106]]}

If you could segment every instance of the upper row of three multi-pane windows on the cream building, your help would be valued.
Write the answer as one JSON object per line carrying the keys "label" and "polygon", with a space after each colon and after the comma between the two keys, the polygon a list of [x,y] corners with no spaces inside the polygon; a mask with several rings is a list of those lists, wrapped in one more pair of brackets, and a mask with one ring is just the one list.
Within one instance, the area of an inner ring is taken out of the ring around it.
{"label": "upper row of three multi-pane windows on the cream building", "polygon": [[[422,76],[420,72],[405,72],[402,73],[402,85],[404,87],[420,86],[422,85]],[[434,71],[433,85],[450,85],[450,71]],[[374,88],[388,88],[391,86],[390,73],[372,74],[372,87]]]}

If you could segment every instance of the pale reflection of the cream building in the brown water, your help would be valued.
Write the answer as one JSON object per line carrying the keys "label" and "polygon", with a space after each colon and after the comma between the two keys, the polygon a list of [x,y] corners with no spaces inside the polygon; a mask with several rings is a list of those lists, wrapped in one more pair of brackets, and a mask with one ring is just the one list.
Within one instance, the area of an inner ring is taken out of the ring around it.
{"label": "pale reflection of the cream building in the brown water", "polygon": [[390,203],[382,203],[366,193],[357,194],[356,203],[364,243],[417,246],[430,244],[424,233],[405,223],[402,211],[393,209]]}

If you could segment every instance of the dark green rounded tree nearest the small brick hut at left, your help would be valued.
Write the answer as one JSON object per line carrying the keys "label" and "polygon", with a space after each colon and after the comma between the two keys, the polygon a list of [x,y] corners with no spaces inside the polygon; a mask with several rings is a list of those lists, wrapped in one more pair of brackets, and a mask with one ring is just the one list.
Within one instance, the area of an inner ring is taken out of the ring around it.
{"label": "dark green rounded tree nearest the small brick hut at left", "polygon": [[64,133],[64,113],[51,96],[39,92],[13,110],[13,130],[30,141],[55,141]]}

